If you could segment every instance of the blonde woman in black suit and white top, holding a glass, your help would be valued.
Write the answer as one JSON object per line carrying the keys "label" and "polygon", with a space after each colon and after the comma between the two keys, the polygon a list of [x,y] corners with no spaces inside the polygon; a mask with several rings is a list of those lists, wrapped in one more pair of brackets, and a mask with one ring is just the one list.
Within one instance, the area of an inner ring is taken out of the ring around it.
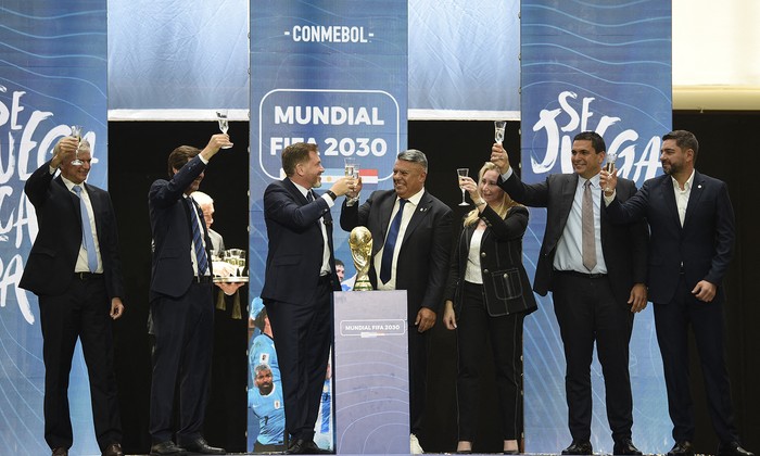
{"label": "blonde woman in black suit and white top, holding a glass", "polygon": [[443,321],[457,329],[459,350],[457,453],[472,452],[478,425],[480,354],[486,334],[494,358],[504,453],[516,454],[522,438],[522,320],[536,309],[522,266],[528,210],[498,185],[498,168],[486,162],[479,181],[465,178],[476,208],[465,216],[452,252]]}

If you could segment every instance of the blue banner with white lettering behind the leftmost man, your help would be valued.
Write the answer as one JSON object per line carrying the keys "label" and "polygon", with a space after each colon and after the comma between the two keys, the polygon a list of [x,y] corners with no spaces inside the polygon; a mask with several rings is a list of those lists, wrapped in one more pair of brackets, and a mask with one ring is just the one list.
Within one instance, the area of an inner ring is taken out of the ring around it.
{"label": "blue banner with white lettering behind the leftmost man", "polygon": [[[24,183],[68,126],[79,124],[92,144],[88,182],[106,187],[105,21],[105,0],[0,4],[0,447],[8,454],[49,452],[37,297],[17,288],[37,236]],[[69,402],[71,454],[100,453],[79,349]]]}

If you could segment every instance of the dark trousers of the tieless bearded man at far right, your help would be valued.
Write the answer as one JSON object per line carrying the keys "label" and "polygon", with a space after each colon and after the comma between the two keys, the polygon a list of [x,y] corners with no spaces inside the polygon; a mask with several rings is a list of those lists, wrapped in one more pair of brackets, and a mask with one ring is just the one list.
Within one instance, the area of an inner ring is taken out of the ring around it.
{"label": "dark trousers of the tieless bearded man at far right", "polygon": [[694,404],[688,373],[688,326],[694,329],[701,360],[708,410],[721,442],[738,442],[731,402],[731,381],[725,367],[725,320],[723,303],[698,301],[683,277],[673,301],[655,304],[655,327],[660,345],[668,391],[668,410],[673,439],[694,440]]}

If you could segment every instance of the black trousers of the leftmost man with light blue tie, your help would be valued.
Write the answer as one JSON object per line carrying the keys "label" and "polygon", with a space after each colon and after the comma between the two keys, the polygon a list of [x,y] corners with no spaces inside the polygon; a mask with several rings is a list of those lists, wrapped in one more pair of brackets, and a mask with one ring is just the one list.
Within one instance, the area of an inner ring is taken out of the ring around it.
{"label": "black trousers of the leftmost man with light blue tie", "polygon": [[87,363],[96,439],[101,451],[122,442],[113,370],[111,300],[102,278],[74,279],[64,294],[39,296],[45,359],[45,440],[51,448],[74,442],[68,410],[68,377],[76,341]]}

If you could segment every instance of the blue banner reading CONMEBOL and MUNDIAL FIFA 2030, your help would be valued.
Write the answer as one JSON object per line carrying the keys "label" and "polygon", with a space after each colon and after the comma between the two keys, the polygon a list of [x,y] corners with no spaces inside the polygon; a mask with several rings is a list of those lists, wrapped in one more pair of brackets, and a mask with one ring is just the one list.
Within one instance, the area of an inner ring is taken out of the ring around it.
{"label": "blue banner reading CONMEBOL and MUNDIAL FIFA 2030", "polygon": [[[319,145],[322,189],[356,157],[363,200],[390,188],[396,154],[406,148],[407,3],[251,2],[250,292],[264,280],[267,236],[262,197],[280,179],[290,143]],[[230,152],[235,153],[235,152]],[[340,204],[332,216],[340,217]],[[347,233],[333,227],[335,256],[354,275]],[[297,278],[293,278],[297,287]],[[249,434],[257,426],[250,422]]]}

